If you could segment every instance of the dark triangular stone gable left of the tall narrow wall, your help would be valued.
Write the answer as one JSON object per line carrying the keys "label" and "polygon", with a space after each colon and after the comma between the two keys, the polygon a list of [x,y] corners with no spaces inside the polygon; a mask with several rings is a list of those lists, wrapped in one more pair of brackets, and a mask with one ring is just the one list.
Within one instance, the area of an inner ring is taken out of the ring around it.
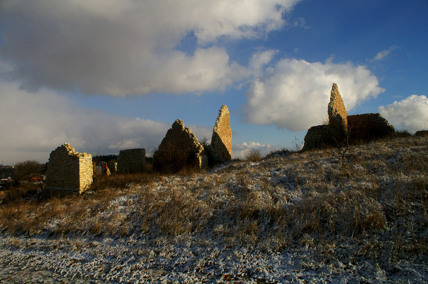
{"label": "dark triangular stone gable left of the tall narrow wall", "polygon": [[168,172],[184,167],[202,169],[207,167],[207,157],[196,136],[181,120],[176,120],[153,154],[153,167]]}

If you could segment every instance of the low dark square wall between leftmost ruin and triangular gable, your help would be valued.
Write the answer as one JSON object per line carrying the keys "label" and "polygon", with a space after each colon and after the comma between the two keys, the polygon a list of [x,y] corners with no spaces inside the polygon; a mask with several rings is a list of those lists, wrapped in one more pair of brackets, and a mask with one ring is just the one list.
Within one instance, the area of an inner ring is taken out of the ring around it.
{"label": "low dark square wall between leftmost ruin and triangular gable", "polygon": [[144,172],[146,170],[146,149],[136,148],[119,151],[117,171],[122,173]]}

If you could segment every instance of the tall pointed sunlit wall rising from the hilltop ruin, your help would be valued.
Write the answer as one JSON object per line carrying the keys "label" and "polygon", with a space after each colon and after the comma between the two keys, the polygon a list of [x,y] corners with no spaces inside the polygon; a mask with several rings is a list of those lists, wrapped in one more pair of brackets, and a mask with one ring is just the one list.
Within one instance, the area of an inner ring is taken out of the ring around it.
{"label": "tall pointed sunlit wall rising from the hilltop ruin", "polygon": [[330,103],[328,104],[328,124],[337,136],[336,139],[343,140],[347,133],[347,117],[345,106],[336,84],[331,87]]}

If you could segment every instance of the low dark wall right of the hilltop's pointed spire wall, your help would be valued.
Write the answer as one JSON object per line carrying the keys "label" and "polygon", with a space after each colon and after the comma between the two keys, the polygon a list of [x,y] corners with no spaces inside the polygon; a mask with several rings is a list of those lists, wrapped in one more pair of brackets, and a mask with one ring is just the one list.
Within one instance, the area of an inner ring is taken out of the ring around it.
{"label": "low dark wall right of the hilltop's pointed spire wall", "polygon": [[371,141],[395,132],[394,126],[378,113],[348,116],[348,129],[351,143]]}

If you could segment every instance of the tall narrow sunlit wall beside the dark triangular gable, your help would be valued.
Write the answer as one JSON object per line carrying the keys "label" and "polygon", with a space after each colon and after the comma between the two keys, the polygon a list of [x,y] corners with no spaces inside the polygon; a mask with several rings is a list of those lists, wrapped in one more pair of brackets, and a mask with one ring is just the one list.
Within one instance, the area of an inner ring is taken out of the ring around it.
{"label": "tall narrow sunlit wall beside the dark triangular gable", "polygon": [[232,129],[230,128],[230,114],[226,105],[219,111],[216,125],[212,130],[211,150],[213,155],[220,160],[232,159]]}

